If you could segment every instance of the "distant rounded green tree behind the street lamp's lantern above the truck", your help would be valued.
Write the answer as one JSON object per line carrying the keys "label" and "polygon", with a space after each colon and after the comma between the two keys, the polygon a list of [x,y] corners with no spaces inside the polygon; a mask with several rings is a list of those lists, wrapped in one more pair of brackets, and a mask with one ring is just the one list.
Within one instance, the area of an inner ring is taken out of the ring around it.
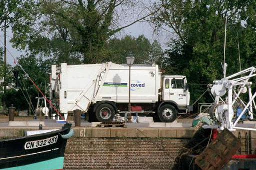
{"label": "distant rounded green tree behind the street lamp's lantern above the truck", "polygon": [[108,42],[107,51],[108,60],[115,63],[126,63],[126,57],[132,53],[136,64],[153,64],[158,63],[163,54],[159,42],[155,40],[151,43],[144,35],[113,38]]}

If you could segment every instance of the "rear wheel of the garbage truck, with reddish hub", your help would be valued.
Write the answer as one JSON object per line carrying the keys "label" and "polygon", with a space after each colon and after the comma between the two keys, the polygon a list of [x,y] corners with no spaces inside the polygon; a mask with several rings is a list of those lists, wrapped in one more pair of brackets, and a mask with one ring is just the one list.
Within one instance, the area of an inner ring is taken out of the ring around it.
{"label": "rear wheel of the garbage truck, with reddish hub", "polygon": [[96,109],[96,118],[100,122],[111,122],[114,119],[114,116],[114,107],[108,103],[103,103]]}

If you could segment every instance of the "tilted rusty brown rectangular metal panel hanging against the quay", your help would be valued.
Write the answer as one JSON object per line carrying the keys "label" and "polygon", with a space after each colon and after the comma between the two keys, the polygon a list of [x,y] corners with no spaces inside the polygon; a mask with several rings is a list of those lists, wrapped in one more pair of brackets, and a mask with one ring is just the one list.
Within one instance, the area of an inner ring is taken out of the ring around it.
{"label": "tilted rusty brown rectangular metal panel hanging against the quay", "polygon": [[221,170],[241,147],[241,141],[228,129],[218,133],[209,146],[196,157],[195,163],[202,170]]}

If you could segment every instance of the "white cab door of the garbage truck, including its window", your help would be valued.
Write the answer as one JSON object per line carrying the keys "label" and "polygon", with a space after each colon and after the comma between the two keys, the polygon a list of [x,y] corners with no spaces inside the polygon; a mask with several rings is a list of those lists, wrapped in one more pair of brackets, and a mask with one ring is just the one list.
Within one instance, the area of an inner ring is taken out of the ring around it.
{"label": "white cab door of the garbage truck, including its window", "polygon": [[170,86],[170,100],[179,106],[187,105],[187,94],[185,89],[185,78],[172,78]]}

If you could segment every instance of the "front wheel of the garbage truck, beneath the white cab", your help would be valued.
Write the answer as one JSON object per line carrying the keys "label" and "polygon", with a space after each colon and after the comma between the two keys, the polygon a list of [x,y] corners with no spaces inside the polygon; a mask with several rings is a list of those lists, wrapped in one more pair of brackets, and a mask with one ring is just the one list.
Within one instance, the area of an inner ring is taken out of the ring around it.
{"label": "front wheel of the garbage truck, beneath the white cab", "polygon": [[177,118],[177,109],[172,105],[163,105],[158,116],[162,122],[173,122]]}

